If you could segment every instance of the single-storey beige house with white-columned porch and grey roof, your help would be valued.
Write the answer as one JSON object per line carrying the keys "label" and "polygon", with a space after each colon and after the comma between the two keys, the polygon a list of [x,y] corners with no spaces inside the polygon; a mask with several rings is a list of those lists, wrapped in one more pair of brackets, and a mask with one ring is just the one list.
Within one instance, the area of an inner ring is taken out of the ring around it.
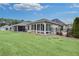
{"label": "single-storey beige house with white-columned porch and grey roof", "polygon": [[40,19],[33,22],[23,22],[14,26],[14,31],[27,31],[39,34],[56,34],[61,32],[65,28],[66,24],[58,19],[48,20]]}

